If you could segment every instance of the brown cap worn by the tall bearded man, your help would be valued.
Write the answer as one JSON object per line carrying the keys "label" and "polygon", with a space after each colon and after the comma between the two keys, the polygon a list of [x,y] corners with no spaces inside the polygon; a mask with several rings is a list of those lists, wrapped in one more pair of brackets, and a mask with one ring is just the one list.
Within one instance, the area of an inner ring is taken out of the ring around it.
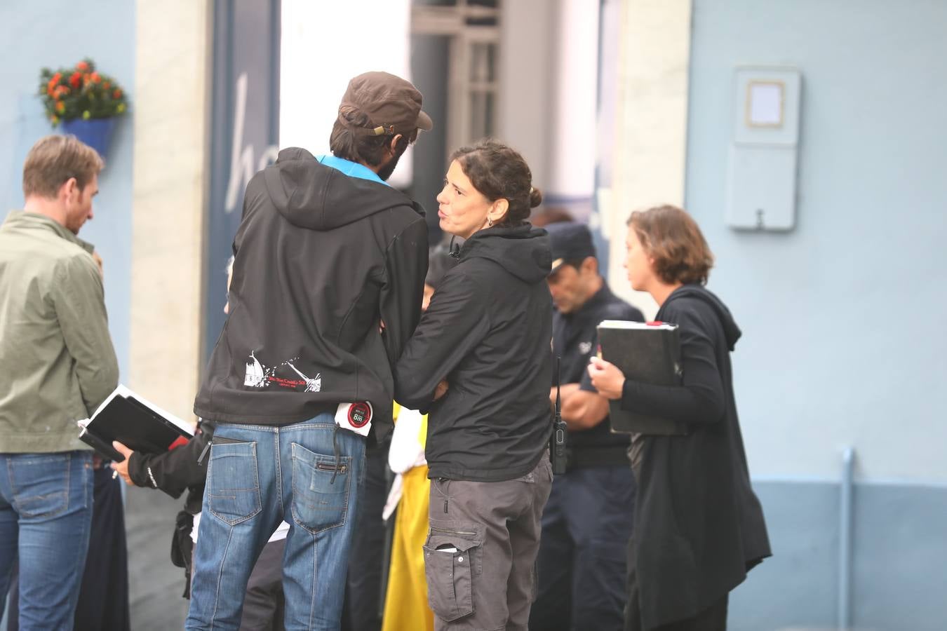
{"label": "brown cap worn by the tall bearded man", "polygon": [[[409,135],[415,130],[434,127],[431,117],[420,109],[418,88],[401,77],[386,72],[366,72],[348,81],[346,94],[339,105],[339,122],[359,134]],[[350,107],[366,114],[371,127],[352,125],[343,109]]]}

